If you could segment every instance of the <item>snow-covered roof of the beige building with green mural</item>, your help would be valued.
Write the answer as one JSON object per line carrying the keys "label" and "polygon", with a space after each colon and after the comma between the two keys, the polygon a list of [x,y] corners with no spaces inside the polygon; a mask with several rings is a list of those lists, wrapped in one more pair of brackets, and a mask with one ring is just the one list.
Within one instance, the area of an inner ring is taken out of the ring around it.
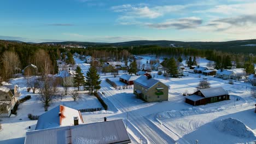
{"label": "snow-covered roof of the beige building with green mural", "polygon": [[142,87],[145,87],[145,88],[150,88],[150,87],[153,87],[156,83],[160,82],[159,80],[156,80],[156,79],[148,79],[147,76],[141,76],[139,77],[137,80],[133,81],[133,83],[136,83]]}

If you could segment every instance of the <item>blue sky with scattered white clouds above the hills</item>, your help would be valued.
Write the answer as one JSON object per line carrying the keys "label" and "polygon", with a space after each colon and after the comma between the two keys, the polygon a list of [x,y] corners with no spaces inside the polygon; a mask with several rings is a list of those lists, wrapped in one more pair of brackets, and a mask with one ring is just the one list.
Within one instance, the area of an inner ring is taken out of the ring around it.
{"label": "blue sky with scattered white clouds above the hills", "polygon": [[0,39],[32,42],[256,38],[256,1],[2,0]]}

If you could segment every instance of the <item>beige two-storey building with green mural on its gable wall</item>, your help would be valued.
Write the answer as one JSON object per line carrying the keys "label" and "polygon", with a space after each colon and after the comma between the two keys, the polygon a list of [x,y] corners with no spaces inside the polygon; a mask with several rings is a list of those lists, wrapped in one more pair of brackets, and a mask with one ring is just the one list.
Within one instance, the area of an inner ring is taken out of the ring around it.
{"label": "beige two-storey building with green mural on its gable wall", "polygon": [[168,86],[151,76],[141,76],[133,81],[133,93],[147,102],[168,100]]}

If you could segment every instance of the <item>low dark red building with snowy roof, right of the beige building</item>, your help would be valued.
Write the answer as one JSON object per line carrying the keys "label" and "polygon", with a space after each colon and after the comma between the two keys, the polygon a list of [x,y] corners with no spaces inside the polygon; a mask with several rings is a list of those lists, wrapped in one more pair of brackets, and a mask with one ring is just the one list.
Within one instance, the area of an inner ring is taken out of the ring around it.
{"label": "low dark red building with snowy roof, right of the beige building", "polygon": [[185,97],[185,103],[194,106],[223,100],[229,100],[229,94],[222,87],[199,89],[199,91],[196,91],[193,95]]}

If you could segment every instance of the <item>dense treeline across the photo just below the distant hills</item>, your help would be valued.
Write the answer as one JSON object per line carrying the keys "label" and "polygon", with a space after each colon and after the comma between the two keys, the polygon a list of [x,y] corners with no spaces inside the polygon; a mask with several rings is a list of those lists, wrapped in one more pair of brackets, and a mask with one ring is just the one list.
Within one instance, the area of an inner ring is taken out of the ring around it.
{"label": "dense treeline across the photo just below the distant hills", "polygon": [[4,52],[13,52],[18,56],[20,61],[19,68],[24,69],[29,64],[35,64],[39,72],[42,72],[43,63],[45,59],[51,63],[51,74],[58,73],[56,60],[61,57],[62,52],[70,51],[71,53],[79,53],[81,55],[90,55],[101,59],[103,62],[108,59],[113,61],[127,61],[132,55],[155,55],[156,57],[182,57],[188,59],[189,56],[206,57],[210,61],[217,63],[225,63],[226,59],[236,62],[237,68],[244,68],[246,63],[256,63],[256,58],[252,53],[231,53],[212,49],[194,49],[187,47],[164,47],[157,45],[143,45],[143,46],[110,46],[110,45],[95,45],[88,46],[87,49],[67,47],[63,49],[61,45],[48,44],[27,44],[16,43],[5,40],[0,40],[0,76],[3,79],[9,79],[11,76],[4,76],[6,71],[3,67]]}

